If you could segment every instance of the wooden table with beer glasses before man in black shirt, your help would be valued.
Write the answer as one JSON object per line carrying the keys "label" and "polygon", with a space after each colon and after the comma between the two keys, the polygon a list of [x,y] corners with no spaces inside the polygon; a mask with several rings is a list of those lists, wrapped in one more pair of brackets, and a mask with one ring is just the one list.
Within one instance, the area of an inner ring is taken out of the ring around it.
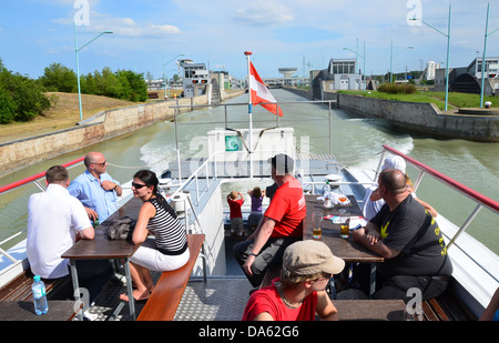
{"label": "wooden table with beer glasses before man in black shirt", "polygon": [[[347,210],[349,212],[347,215],[363,215],[363,211],[360,210],[360,206],[354,195],[348,195],[350,201],[349,205],[336,205],[329,210],[324,209],[324,202],[322,200],[317,200],[317,198],[318,195],[305,195],[307,214],[303,228],[304,240],[314,239],[312,233],[312,213],[316,211],[323,211],[324,216],[329,214],[345,215],[345,213],[340,212],[340,210]],[[376,287],[376,263],[384,262],[385,259],[371,252],[360,243],[354,241],[352,235],[348,239],[342,239],[339,236],[339,224],[333,224],[333,221],[330,220],[323,220],[322,229],[323,238],[320,241],[329,246],[335,256],[345,260],[345,262],[370,263],[369,295],[373,294]]]}

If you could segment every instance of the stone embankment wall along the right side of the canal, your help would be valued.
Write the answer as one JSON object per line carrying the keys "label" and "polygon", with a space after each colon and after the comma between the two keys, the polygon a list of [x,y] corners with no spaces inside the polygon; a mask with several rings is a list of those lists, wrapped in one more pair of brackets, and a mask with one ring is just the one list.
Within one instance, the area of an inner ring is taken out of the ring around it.
{"label": "stone embankment wall along the right side of the canal", "polygon": [[[307,90],[295,88],[286,88],[286,90],[312,98]],[[323,94],[323,100],[336,100],[339,109],[363,117],[385,119],[406,132],[437,139],[499,142],[499,115],[493,110],[468,109],[442,113],[431,103],[394,101],[327,91]]]}

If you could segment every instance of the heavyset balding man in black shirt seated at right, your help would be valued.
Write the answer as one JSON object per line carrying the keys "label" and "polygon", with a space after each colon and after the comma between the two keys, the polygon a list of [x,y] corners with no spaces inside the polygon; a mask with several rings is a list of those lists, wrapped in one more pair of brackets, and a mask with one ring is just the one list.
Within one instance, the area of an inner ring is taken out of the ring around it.
{"label": "heavyset balding man in black shirt seated at right", "polygon": [[[395,169],[379,174],[381,210],[353,238],[385,258],[378,265],[381,289],[374,299],[408,300],[418,287],[422,300],[438,296],[447,287],[452,265],[435,219],[407,191],[404,173]],[[378,283],[379,286],[379,283]]]}

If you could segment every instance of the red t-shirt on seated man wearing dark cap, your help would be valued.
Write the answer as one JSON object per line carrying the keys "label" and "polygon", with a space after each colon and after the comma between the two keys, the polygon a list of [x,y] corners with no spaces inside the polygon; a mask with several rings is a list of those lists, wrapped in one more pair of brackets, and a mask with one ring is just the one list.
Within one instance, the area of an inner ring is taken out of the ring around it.
{"label": "red t-shirt on seated man wearing dark cap", "polygon": [[292,179],[277,189],[265,211],[265,216],[276,221],[271,236],[303,236],[303,220],[306,213],[302,184]]}

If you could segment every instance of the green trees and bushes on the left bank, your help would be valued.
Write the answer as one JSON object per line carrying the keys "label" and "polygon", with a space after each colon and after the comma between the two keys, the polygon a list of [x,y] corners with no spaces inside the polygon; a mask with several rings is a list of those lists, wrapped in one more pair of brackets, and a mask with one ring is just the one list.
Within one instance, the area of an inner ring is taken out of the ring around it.
{"label": "green trees and bushes on the left bank", "polygon": [[[109,67],[102,71],[80,75],[81,92],[128,101],[147,99],[147,83],[142,73],[131,70],[113,72]],[[8,70],[0,59],[0,124],[26,122],[49,109],[52,100],[47,92],[78,92],[77,73],[52,63],[37,80]]]}

